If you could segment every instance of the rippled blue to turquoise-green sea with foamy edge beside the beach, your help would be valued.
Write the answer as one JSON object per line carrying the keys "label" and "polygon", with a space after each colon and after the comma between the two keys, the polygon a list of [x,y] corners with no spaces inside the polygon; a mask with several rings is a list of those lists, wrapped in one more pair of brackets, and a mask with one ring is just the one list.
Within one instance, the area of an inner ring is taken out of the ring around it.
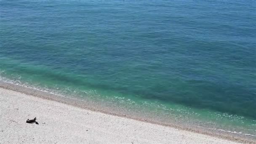
{"label": "rippled blue to turquoise-green sea with foamy edge beside the beach", "polygon": [[0,79],[256,135],[255,9],[251,0],[0,0]]}

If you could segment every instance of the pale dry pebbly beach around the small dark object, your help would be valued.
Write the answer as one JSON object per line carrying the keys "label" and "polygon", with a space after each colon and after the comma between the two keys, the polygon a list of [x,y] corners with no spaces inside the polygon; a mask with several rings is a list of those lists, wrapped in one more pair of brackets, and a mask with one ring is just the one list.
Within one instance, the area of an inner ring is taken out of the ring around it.
{"label": "pale dry pebbly beach around the small dark object", "polygon": [[[26,123],[37,117],[36,124]],[[237,144],[0,88],[0,144]]]}

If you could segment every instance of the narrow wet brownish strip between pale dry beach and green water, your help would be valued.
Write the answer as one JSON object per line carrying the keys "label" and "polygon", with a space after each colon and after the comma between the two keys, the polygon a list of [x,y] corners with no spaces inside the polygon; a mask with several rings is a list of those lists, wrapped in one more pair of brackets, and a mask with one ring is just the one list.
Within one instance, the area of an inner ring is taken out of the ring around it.
{"label": "narrow wet brownish strip between pale dry beach and green water", "polygon": [[160,123],[157,121],[148,120],[148,119],[144,119],[141,117],[134,117],[132,115],[124,115],[124,114],[120,114],[120,113],[115,113],[115,112],[108,110],[111,108],[102,110],[102,107],[97,107],[98,105],[96,103],[94,103],[93,101],[89,101],[89,102],[86,101],[86,103],[85,103],[85,101],[79,101],[78,99],[57,96],[52,93],[47,93],[47,92],[35,90],[32,88],[27,88],[27,87],[24,87],[21,85],[15,85],[15,84],[5,83],[5,82],[1,81],[0,88],[3,88],[5,90],[15,91],[15,92],[22,93],[22,94],[25,94],[28,96],[35,96],[39,99],[50,100],[50,101],[55,101],[55,102],[62,103],[62,104],[67,104],[67,105],[82,108],[85,110],[90,110],[92,112],[100,112],[102,114],[112,115],[112,116],[121,117],[121,118],[124,117],[124,118],[128,118],[131,120],[137,120],[137,121],[140,121],[143,123],[146,122],[146,123],[150,123],[150,124],[165,126],[168,128],[175,128],[175,129],[181,130],[181,131],[188,131],[188,132],[192,132],[192,133],[203,134],[205,136],[213,136],[215,138],[218,138],[218,139],[220,138],[220,139],[228,140],[228,141],[256,144],[256,141],[253,138],[248,139],[248,137],[246,137],[246,138],[245,137],[237,137],[237,136],[233,135],[232,133],[213,131],[213,130],[204,129],[204,128],[185,128],[185,127],[182,127],[181,125],[176,125],[173,123],[171,123],[171,124],[170,123],[168,123],[168,124]]}

